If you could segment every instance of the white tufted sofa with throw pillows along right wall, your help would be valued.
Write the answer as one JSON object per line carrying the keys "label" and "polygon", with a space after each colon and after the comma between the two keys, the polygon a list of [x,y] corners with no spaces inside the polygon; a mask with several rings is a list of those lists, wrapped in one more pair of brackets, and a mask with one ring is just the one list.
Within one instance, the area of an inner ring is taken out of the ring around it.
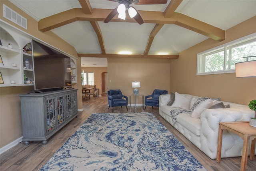
{"label": "white tufted sofa with throw pillows along right wall", "polygon": [[[193,96],[189,94],[181,95]],[[200,97],[192,97],[190,107],[198,98]],[[205,109],[200,118],[192,118],[190,113],[179,113],[176,122],[173,123],[170,111],[177,108],[167,105],[170,99],[170,94],[159,96],[159,114],[211,159],[216,159],[217,155],[219,122],[249,121],[250,117],[254,117],[254,111],[246,105],[219,101],[223,102],[224,105],[229,104],[230,108]],[[224,130],[221,157],[242,156],[242,149],[242,138]]]}

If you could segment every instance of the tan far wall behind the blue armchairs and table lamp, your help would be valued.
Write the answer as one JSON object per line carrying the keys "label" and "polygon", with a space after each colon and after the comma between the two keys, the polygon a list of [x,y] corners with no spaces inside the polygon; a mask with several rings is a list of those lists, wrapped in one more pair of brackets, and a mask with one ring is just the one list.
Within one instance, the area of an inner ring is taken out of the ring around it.
{"label": "tan far wall behind the blue armchairs and table lamp", "polygon": [[[129,98],[135,81],[140,81],[139,95],[150,95],[154,89],[169,91],[169,59],[108,58],[108,90],[121,89]],[[131,103],[134,103],[133,99]],[[137,103],[142,103],[141,99]]]}

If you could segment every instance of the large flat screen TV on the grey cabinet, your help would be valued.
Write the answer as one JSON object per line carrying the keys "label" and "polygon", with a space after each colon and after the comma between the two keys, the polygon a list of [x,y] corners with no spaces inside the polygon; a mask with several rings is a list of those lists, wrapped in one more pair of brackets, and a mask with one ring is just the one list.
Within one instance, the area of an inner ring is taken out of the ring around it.
{"label": "large flat screen TV on the grey cabinet", "polygon": [[32,40],[34,90],[53,91],[71,86],[70,58]]}

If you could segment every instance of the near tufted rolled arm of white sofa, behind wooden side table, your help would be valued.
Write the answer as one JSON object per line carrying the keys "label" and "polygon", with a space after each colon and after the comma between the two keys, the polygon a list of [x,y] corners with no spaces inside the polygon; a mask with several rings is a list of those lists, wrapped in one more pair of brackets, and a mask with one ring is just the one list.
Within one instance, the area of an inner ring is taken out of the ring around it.
{"label": "near tufted rolled arm of white sofa, behind wooden side table", "polygon": [[[206,109],[201,114],[200,150],[216,159],[219,122],[249,121],[254,112],[244,108]],[[235,133],[224,130],[221,157],[241,156],[243,140]]]}

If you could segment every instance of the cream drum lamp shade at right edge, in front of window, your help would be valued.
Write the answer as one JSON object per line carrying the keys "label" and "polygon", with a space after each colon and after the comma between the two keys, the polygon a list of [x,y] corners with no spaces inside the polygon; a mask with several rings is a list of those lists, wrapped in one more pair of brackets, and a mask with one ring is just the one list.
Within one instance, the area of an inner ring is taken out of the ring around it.
{"label": "cream drum lamp shade at right edge, in front of window", "polygon": [[246,61],[236,63],[236,78],[255,77],[256,61]]}

